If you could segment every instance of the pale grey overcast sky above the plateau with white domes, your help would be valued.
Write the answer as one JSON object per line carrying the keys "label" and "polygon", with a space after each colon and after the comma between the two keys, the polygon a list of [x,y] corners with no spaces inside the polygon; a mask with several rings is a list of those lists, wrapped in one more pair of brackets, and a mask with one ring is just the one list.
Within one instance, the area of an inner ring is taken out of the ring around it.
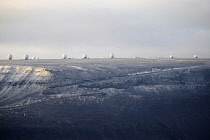
{"label": "pale grey overcast sky above the plateau with white domes", "polygon": [[210,57],[210,0],[0,0],[0,59]]}

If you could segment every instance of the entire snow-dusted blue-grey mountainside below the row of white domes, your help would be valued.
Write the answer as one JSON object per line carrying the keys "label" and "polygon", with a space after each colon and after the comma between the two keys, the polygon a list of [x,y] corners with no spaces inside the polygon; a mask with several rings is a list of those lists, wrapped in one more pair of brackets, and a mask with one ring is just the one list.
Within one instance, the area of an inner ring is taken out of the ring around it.
{"label": "entire snow-dusted blue-grey mountainside below the row of white domes", "polygon": [[0,61],[0,139],[210,139],[209,59]]}

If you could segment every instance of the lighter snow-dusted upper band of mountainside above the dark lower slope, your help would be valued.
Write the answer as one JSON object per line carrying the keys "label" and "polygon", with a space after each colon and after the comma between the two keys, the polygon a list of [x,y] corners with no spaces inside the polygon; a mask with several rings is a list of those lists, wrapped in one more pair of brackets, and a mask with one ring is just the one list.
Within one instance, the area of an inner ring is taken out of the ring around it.
{"label": "lighter snow-dusted upper band of mountainside above the dark lower slope", "polygon": [[2,61],[0,108],[51,98],[79,104],[102,103],[121,94],[141,99],[144,93],[196,92],[208,85],[207,62],[126,61]]}

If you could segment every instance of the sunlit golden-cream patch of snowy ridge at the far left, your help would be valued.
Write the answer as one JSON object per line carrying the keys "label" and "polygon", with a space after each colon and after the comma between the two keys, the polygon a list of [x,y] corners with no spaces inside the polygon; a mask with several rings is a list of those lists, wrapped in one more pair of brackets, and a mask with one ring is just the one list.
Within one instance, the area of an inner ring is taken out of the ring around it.
{"label": "sunlit golden-cream patch of snowy ridge at the far left", "polygon": [[49,72],[43,67],[31,67],[31,66],[0,66],[0,71],[3,73],[9,73],[9,72],[17,72],[22,74],[34,74],[37,76],[44,76],[49,77],[53,76],[53,73]]}

